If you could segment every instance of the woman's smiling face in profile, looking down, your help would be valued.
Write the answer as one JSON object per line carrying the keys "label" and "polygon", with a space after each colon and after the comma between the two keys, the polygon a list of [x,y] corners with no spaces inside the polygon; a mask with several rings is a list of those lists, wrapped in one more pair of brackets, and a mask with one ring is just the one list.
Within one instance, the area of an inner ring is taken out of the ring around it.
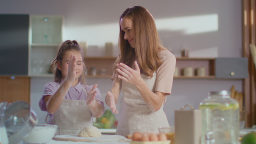
{"label": "woman's smiling face in profile, looking down", "polygon": [[124,32],[124,39],[128,40],[132,48],[135,48],[135,32],[133,20],[128,17],[123,17],[120,20],[120,26]]}

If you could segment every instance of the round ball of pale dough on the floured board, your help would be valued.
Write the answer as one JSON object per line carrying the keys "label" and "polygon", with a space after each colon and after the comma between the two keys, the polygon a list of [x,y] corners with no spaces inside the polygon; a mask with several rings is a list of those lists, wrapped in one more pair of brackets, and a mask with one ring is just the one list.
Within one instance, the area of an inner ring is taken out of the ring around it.
{"label": "round ball of pale dough on the floured board", "polygon": [[81,137],[101,137],[101,132],[95,126],[88,126],[81,130],[78,134]]}

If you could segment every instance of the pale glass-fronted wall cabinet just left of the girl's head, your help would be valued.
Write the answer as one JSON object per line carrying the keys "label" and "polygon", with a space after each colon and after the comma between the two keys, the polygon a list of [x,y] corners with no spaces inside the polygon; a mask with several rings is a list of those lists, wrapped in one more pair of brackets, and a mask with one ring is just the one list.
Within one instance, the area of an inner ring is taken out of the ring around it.
{"label": "pale glass-fronted wall cabinet just left of the girl's head", "polygon": [[30,15],[29,21],[29,76],[53,76],[49,66],[63,40],[64,17]]}

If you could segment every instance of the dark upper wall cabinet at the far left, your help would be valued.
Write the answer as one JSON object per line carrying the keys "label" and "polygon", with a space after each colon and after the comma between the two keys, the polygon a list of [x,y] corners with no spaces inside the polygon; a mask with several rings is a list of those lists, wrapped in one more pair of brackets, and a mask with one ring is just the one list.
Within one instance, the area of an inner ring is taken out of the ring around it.
{"label": "dark upper wall cabinet at the far left", "polygon": [[0,75],[28,74],[28,14],[0,14]]}

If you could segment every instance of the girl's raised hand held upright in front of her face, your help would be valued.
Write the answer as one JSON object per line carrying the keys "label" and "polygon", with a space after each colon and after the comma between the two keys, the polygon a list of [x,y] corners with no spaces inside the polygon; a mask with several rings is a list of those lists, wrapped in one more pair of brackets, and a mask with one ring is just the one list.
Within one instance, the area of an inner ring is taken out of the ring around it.
{"label": "girl's raised hand held upright in front of her face", "polygon": [[69,59],[69,65],[68,65],[68,74],[66,79],[74,82],[75,81],[75,67],[76,67],[76,57],[72,54]]}

